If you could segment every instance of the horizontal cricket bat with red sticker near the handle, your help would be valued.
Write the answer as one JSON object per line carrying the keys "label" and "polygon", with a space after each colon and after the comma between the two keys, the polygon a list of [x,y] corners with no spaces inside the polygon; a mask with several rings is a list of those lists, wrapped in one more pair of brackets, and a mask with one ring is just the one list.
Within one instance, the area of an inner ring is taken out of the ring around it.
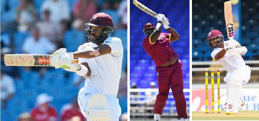
{"label": "horizontal cricket bat with red sticker near the handle", "polygon": [[[5,54],[5,66],[51,66],[52,55],[37,54]],[[73,63],[78,63],[77,59],[73,59]]]}

